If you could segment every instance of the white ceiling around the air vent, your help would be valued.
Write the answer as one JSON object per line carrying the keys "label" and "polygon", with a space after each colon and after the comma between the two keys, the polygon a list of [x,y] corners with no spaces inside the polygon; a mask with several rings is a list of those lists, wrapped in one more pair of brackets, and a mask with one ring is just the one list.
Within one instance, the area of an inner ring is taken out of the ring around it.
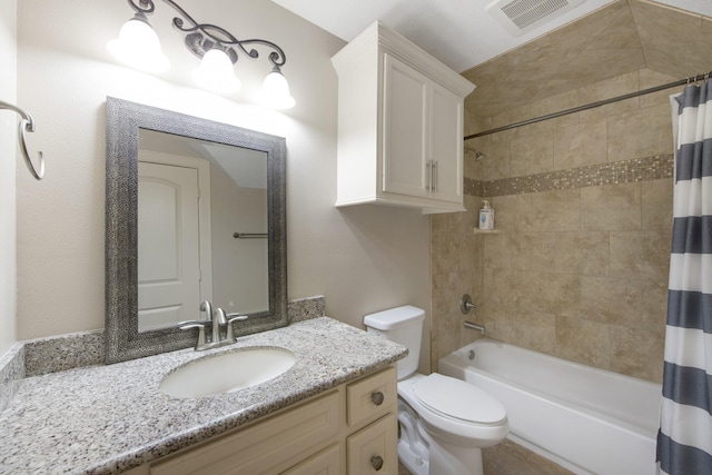
{"label": "white ceiling around the air vent", "polygon": [[[455,71],[463,72],[619,0],[585,0],[520,37],[507,32],[485,10],[493,0],[273,1],[345,41],[380,20]],[[711,0],[655,1],[712,17]]]}

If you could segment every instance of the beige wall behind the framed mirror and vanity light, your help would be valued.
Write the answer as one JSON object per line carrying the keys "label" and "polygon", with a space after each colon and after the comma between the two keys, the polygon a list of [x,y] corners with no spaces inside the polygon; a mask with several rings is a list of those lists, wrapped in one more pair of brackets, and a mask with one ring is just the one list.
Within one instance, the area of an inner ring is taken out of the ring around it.
{"label": "beige wall behind the framed mirror and vanity light", "polygon": [[187,83],[197,61],[161,2],[150,21],[174,72],[160,77],[117,66],[106,52],[132,14],[126,2],[19,3],[18,98],[37,116],[36,144],[48,164],[41,186],[18,180],[20,339],[103,327],[106,96],[287,138],[289,298],[325,295],[327,313],[354,326],[383,308],[428,307],[428,218],[334,208],[337,77],[329,59],[343,41],[264,0],[181,2],[199,21],[285,48],[297,107],[280,113],[249,103],[269,69],[265,60],[240,60],[244,88],[231,98]]}

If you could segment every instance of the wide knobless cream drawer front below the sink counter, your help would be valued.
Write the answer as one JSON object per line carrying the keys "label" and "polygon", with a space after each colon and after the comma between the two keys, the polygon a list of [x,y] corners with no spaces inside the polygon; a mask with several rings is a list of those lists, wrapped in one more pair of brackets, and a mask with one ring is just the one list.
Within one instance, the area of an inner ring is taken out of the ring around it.
{"label": "wide knobless cream drawer front below the sink counter", "polygon": [[332,393],[215,442],[151,465],[151,475],[277,473],[328,445],[339,432]]}

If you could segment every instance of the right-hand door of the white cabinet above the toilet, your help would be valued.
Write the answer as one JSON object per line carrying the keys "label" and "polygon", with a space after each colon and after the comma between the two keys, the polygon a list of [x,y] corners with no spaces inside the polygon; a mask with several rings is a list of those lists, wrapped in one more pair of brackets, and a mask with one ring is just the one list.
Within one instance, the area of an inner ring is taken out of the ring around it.
{"label": "right-hand door of the white cabinet above the toilet", "polygon": [[463,202],[463,100],[433,83],[431,95],[429,158],[434,160],[435,189],[431,197]]}

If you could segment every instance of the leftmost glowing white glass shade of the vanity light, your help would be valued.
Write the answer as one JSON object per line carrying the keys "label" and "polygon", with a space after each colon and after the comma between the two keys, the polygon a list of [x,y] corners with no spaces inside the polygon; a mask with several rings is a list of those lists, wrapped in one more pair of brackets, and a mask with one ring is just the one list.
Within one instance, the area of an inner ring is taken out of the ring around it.
{"label": "leftmost glowing white glass shade of the vanity light", "polygon": [[164,72],[170,67],[160,50],[158,34],[137,14],[121,27],[119,37],[107,43],[115,58],[131,68],[146,72]]}

